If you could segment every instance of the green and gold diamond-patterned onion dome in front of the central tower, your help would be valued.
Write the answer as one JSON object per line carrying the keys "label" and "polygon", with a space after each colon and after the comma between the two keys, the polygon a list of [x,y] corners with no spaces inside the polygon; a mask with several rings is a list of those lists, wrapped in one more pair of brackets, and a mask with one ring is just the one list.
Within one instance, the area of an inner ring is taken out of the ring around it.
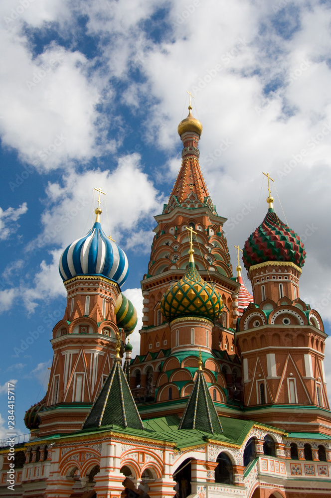
{"label": "green and gold diamond-patterned onion dome in front of the central tower", "polygon": [[185,316],[215,322],[223,308],[221,296],[199,275],[193,259],[194,249],[188,252],[190,260],[185,275],[165,291],[161,300],[162,314],[169,322]]}

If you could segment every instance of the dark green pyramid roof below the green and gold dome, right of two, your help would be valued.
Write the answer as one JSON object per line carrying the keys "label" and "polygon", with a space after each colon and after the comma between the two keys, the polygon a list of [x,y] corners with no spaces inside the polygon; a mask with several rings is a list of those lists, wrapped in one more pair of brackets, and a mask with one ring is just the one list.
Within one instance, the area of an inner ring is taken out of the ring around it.
{"label": "dark green pyramid roof below the green and gold dome, right of two", "polygon": [[202,370],[197,371],[178,429],[197,429],[211,434],[223,432]]}

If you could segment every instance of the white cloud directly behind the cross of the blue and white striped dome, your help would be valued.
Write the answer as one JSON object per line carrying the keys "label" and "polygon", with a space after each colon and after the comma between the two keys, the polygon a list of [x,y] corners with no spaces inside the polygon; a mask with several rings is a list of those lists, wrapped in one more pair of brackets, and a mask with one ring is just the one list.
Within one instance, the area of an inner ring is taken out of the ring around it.
{"label": "white cloud directly behind the cross of the blue and white striped dome", "polygon": [[[160,211],[164,198],[160,196],[142,171],[139,154],[119,158],[114,171],[89,170],[84,173],[69,173],[63,177],[64,187],[49,184],[47,194],[51,207],[42,214],[42,234],[29,250],[49,244],[61,244],[63,248],[92,227],[95,214],[91,210],[93,187],[106,192],[102,196],[101,224],[103,230],[118,244],[131,231]],[[94,194],[98,195],[98,194]],[[106,206],[105,206],[106,202]]]}

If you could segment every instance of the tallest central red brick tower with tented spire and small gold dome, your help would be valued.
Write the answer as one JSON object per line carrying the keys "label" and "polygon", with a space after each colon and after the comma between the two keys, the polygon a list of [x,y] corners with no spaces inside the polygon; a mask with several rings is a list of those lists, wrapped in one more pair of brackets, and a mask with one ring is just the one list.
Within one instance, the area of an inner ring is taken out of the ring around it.
{"label": "tallest central red brick tower with tented spire and small gold dome", "polygon": [[[141,349],[140,356],[131,364],[130,382],[138,402],[160,398],[160,382],[164,378],[160,369],[165,358],[169,357],[167,369],[176,366],[180,370],[180,375],[176,373],[178,379],[183,376],[181,380],[192,381],[181,360],[170,360],[169,355],[193,355],[194,358],[190,360],[192,365],[187,366],[196,369],[199,347],[202,355],[207,355],[208,352],[211,355],[212,350],[225,350],[232,357],[236,353],[234,331],[238,317],[237,297],[240,284],[233,278],[230,255],[222,230],[226,219],[218,216],[200,170],[198,142],[202,125],[193,118],[191,109],[189,106],[187,118],[178,125],[178,134],[183,143],[182,163],[169,201],[165,204],[163,213],[155,217],[158,223],[154,230],[156,235],[148,273],[142,281],[144,316],[143,328],[140,330]],[[184,277],[188,268],[189,228],[195,233],[195,268],[203,280],[211,283],[220,294],[224,306],[220,317],[207,325],[202,322],[197,324],[196,320],[188,323],[186,320],[179,321],[176,326],[172,324],[170,328],[168,320],[162,314],[161,300],[169,286],[175,285]],[[176,333],[182,339],[185,337],[185,340],[178,341],[177,346]],[[204,362],[206,358],[203,357]],[[216,363],[212,360],[211,364],[213,362]],[[220,371],[219,367],[215,369]],[[211,375],[208,380],[210,383],[214,383],[212,377]],[[190,387],[191,385],[192,382]],[[188,393],[189,389],[177,389],[175,385],[172,387],[172,399],[187,396]],[[184,405],[185,400],[179,411]],[[146,415],[148,413],[144,411],[144,416]]]}

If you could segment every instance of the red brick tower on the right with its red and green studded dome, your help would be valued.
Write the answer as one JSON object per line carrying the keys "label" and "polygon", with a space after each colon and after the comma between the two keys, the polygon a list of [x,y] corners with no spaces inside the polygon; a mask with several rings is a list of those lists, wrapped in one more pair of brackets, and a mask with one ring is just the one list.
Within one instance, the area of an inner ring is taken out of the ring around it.
{"label": "red brick tower on the right with its red and green studded dome", "polygon": [[276,215],[270,192],[267,202],[268,213],[243,250],[254,292],[236,333],[247,417],[287,431],[304,431],[309,424],[311,432],[330,433],[327,334],[318,312],[299,298],[306,252]]}

